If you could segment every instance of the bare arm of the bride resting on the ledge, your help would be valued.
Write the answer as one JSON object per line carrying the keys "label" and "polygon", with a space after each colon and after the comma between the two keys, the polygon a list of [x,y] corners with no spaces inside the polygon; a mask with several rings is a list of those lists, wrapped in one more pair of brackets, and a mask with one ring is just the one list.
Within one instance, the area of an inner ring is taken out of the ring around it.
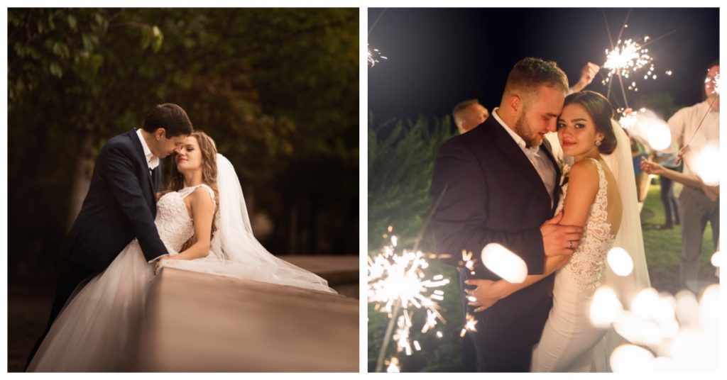
{"label": "bare arm of the bride resting on the ledge", "polygon": [[174,256],[165,256],[172,260],[193,260],[209,254],[212,235],[212,218],[214,217],[214,201],[204,187],[198,187],[189,195],[192,220],[194,221],[194,240],[192,245]]}

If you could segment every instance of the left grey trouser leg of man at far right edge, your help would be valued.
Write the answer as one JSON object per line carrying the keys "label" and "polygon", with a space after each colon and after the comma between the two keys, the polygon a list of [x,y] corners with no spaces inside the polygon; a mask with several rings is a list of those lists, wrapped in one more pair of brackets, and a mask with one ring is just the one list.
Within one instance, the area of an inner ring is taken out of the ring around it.
{"label": "left grey trouser leg of man at far right edge", "polygon": [[[679,197],[682,222],[682,257],[679,265],[680,287],[695,294],[699,291],[699,252],[702,251],[702,235],[707,227],[708,204],[702,190],[685,186]],[[711,203],[711,202],[710,202]],[[719,222],[718,222],[719,224]]]}

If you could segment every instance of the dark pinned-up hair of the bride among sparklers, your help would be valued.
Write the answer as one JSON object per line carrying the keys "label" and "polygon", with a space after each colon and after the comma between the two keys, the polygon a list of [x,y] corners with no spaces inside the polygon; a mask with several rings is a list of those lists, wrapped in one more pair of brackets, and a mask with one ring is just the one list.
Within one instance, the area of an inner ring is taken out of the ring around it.
{"label": "dark pinned-up hair of the bride among sparklers", "polygon": [[598,151],[603,154],[611,154],[616,150],[616,134],[614,134],[614,126],[611,124],[611,118],[614,116],[614,108],[608,99],[598,92],[582,91],[575,92],[566,97],[563,108],[569,104],[579,104],[590,114],[595,124],[595,130],[603,134],[601,145]]}

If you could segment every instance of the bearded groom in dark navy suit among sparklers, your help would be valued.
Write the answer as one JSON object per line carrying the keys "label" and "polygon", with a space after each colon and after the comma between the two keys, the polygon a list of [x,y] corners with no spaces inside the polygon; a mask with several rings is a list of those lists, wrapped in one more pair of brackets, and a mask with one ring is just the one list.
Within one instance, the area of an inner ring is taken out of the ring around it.
{"label": "bearded groom in dark navy suit among sparklers", "polygon": [[[555,131],[567,91],[566,75],[555,62],[525,58],[507,76],[499,108],[478,128],[441,146],[430,190],[435,199],[444,194],[432,229],[438,253],[449,254],[450,264],[463,250],[479,259],[484,246],[499,243],[523,259],[529,275],[538,275],[546,255],[573,253],[582,228],[549,220],[558,205],[561,170],[543,139]],[[474,275],[460,272],[462,283],[500,279],[479,260]],[[478,371],[529,371],[532,346],[553,304],[552,288],[551,275],[483,312],[468,307],[477,320],[477,331],[468,333]]]}

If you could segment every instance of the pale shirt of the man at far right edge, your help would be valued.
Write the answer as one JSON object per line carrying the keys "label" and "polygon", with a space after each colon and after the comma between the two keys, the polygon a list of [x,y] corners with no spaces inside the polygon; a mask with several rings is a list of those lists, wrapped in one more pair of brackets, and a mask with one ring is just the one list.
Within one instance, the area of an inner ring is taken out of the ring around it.
{"label": "pale shirt of the man at far right edge", "polygon": [[[719,100],[718,100],[719,101]],[[702,126],[699,122],[702,121]],[[684,155],[684,174],[694,173],[694,158],[707,144],[719,148],[720,145],[720,111],[712,110],[707,100],[691,107],[677,111],[668,121],[672,139],[681,148],[689,144],[688,153]],[[696,130],[699,126],[699,131]],[[695,134],[696,132],[696,134]],[[694,135],[694,139],[689,140]]]}

